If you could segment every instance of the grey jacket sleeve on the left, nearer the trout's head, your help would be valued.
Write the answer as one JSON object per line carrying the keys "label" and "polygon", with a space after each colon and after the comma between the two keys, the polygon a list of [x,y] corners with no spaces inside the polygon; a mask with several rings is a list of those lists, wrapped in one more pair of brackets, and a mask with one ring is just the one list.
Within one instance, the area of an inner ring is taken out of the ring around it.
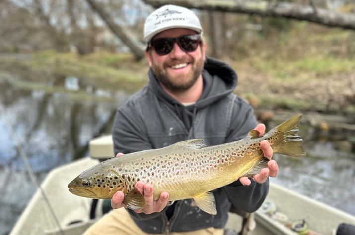
{"label": "grey jacket sleeve on the left, nearer the trout's head", "polygon": [[[117,111],[112,131],[115,155],[119,152],[127,154],[152,148],[143,122],[140,121],[140,115],[136,110],[132,103],[128,103]],[[136,220],[152,219],[164,213],[164,210],[149,215],[136,213],[131,209],[127,209],[127,211]]]}

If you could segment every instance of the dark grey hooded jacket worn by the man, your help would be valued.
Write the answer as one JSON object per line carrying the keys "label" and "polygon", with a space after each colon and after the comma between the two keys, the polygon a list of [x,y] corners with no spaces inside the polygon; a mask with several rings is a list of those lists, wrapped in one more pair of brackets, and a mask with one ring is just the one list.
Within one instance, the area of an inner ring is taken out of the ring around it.
{"label": "dark grey hooded jacket worn by the man", "polygon": [[[161,89],[149,70],[149,84],[117,111],[113,127],[115,154],[161,148],[193,138],[203,139],[206,145],[222,144],[240,140],[255,128],[253,109],[233,94],[236,73],[225,63],[207,58],[202,75],[203,94],[195,104],[184,106]],[[252,182],[250,186],[236,181],[213,190],[215,216],[192,205],[190,199],[177,201],[159,213],[129,212],[146,233],[223,228],[231,203],[243,211],[254,212],[264,201],[268,187],[268,181]]]}

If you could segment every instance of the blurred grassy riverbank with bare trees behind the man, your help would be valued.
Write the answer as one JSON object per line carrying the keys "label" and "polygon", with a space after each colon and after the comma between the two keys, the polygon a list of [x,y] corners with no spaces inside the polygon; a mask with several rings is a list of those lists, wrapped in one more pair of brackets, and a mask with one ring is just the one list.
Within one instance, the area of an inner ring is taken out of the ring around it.
{"label": "blurred grassy riverbank with bare trees behind the man", "polygon": [[[355,13],[353,0],[268,2]],[[1,67],[50,70],[107,89],[137,90],[146,82],[148,67],[133,49],[142,55],[143,24],[153,9],[142,0],[2,0]],[[355,112],[354,30],[282,17],[194,11],[204,28],[208,55],[236,69],[237,93],[255,108],[269,104]],[[9,56],[19,54],[28,57]]]}

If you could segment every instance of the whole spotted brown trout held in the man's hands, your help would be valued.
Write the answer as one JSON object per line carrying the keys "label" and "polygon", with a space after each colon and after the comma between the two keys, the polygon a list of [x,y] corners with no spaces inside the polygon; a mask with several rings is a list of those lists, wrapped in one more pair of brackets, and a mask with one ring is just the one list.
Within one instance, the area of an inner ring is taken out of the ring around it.
{"label": "whole spotted brown trout held in the man's hands", "polygon": [[136,182],[143,181],[153,186],[154,200],[166,191],[170,201],[192,198],[203,211],[215,215],[212,190],[242,176],[252,177],[267,167],[269,159],[260,148],[262,140],[270,142],[274,153],[305,156],[297,135],[301,116],[292,117],[263,136],[251,130],[242,140],[215,146],[193,139],[114,157],[80,174],[68,188],[78,196],[107,199],[120,190],[125,194],[123,204],[136,210],[145,205],[135,188]]}

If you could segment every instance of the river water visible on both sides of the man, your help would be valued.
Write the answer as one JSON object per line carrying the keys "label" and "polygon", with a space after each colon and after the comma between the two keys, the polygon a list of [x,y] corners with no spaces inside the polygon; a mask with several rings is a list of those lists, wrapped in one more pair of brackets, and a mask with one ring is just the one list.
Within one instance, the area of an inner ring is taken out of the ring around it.
{"label": "river water visible on both sides of the man", "polygon": [[[40,183],[51,169],[86,156],[93,137],[110,133],[117,107],[130,95],[84,86],[71,76],[36,83],[25,78],[0,71],[0,235],[11,230],[36,190],[18,146]],[[11,128],[19,141],[11,138]],[[307,127],[300,132],[307,157],[275,156],[280,174],[271,180],[355,215],[355,154],[349,134],[326,135]]]}

